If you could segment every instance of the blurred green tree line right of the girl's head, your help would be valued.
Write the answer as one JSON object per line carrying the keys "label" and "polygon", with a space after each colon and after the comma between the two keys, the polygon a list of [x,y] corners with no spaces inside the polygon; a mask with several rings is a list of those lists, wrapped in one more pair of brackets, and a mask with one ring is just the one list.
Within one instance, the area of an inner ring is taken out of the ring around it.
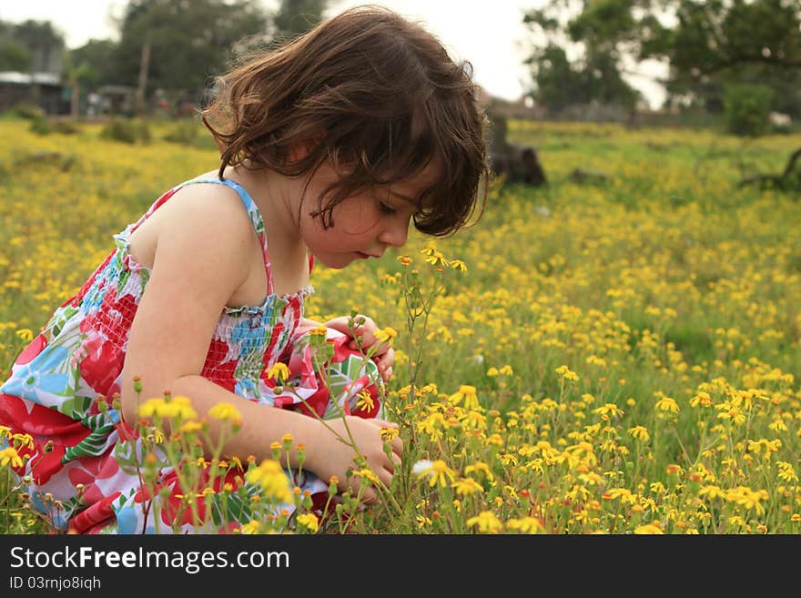
{"label": "blurred green tree line right of the girl's head", "polygon": [[532,97],[552,112],[634,108],[626,75],[657,60],[667,107],[720,113],[751,96],[801,117],[801,0],[549,0],[524,22],[536,40]]}

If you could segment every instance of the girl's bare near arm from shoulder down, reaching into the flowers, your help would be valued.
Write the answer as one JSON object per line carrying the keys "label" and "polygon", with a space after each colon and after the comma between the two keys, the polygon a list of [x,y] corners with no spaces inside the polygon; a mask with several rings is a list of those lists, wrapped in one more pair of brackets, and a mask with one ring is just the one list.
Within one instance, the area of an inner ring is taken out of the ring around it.
{"label": "girl's bare near arm from shoulder down, reaching into the flowers", "polygon": [[[294,445],[307,447],[306,468],[320,477],[336,474],[344,481],[353,451],[320,421],[243,400],[200,376],[220,313],[248,278],[248,256],[252,244],[258,243],[236,192],[218,185],[192,185],[178,191],[150,218],[156,217],[155,258],[131,326],[123,369],[125,420],[133,425],[138,420],[133,390],[138,376],[141,400],[160,397],[169,390],[172,396],[188,397],[198,417],[218,402],[235,405],[242,415],[242,427],[223,454],[237,455],[242,461],[248,455],[259,461],[267,459],[271,457],[270,443],[290,433]],[[218,424],[210,424],[216,439]],[[393,463],[382,453],[379,428],[394,424],[360,420],[353,427],[370,468],[380,477],[389,476],[390,481]],[[289,461],[297,463],[294,451]]]}

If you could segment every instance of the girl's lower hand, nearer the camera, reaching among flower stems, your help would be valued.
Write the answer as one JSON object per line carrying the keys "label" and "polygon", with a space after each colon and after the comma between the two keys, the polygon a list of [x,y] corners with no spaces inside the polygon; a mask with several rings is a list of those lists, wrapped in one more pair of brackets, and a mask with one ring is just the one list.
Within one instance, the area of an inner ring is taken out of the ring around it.
{"label": "girl's lower hand, nearer the camera, reaching among flower stems", "polygon": [[[323,481],[328,481],[335,475],[339,479],[340,492],[350,488],[354,495],[358,495],[360,476],[350,476],[349,480],[347,475],[350,468],[358,469],[353,461],[356,452],[350,445],[352,437],[360,454],[367,459],[370,470],[378,476],[384,486],[390,487],[395,468],[400,465],[403,441],[400,440],[400,436],[391,441],[390,459],[384,452],[384,441],[380,431],[382,428],[397,430],[397,423],[346,415],[343,418],[327,420],[323,425],[327,425],[330,430],[323,429],[319,435],[320,443],[313,451],[309,451],[310,447],[307,447],[309,471],[314,471]],[[361,502],[372,504],[378,500],[378,496],[379,493],[374,487],[365,488],[361,494]]]}

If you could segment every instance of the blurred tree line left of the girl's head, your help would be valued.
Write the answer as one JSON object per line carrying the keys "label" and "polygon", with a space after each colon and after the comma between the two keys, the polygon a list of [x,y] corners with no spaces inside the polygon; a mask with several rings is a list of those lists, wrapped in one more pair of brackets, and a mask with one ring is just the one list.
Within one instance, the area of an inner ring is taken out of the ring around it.
{"label": "blurred tree line left of the girl's head", "polygon": [[129,0],[117,17],[117,40],[91,39],[66,49],[49,21],[0,21],[0,71],[41,72],[63,56],[60,74],[82,90],[137,88],[198,99],[210,77],[238,55],[279,43],[319,23],[336,0],[281,0],[274,13],[259,0]]}

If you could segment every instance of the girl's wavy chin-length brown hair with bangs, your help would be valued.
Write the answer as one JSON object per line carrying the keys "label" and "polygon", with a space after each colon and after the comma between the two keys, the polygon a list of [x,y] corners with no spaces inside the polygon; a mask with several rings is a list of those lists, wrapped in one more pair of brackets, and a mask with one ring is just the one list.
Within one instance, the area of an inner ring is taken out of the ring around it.
{"label": "girl's wavy chin-length brown hair with bangs", "polygon": [[[313,173],[330,161],[342,176],[323,190],[332,208],[375,186],[390,186],[433,163],[440,176],[422,190],[414,224],[443,236],[468,224],[486,198],[484,117],[471,65],[454,62],[420,25],[380,6],[360,6],[277,49],[248,56],[217,81],[201,113],[228,165]],[[290,159],[297,143],[309,153]]]}

